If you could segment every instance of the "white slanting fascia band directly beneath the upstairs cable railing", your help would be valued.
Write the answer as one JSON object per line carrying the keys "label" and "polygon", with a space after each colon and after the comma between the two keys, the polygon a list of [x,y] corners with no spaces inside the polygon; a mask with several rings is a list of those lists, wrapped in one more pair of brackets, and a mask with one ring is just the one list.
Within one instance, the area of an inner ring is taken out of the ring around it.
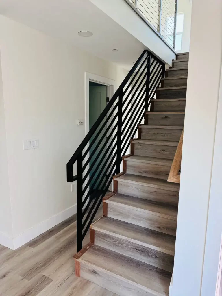
{"label": "white slanting fascia band directly beneath the upstairs cable railing", "polygon": [[124,0],[90,1],[142,42],[157,57],[172,65],[172,59],[176,59],[176,54],[141,20]]}

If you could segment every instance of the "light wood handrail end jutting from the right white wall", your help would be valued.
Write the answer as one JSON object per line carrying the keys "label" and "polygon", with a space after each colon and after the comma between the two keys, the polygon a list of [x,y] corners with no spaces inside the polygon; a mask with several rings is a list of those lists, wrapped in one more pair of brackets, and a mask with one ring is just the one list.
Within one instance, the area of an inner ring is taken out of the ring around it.
{"label": "light wood handrail end jutting from the right white wall", "polygon": [[184,130],[181,133],[180,141],[176,149],[173,163],[171,165],[170,173],[167,179],[168,182],[180,183],[180,175],[178,173],[181,166],[183,137],[184,137]]}

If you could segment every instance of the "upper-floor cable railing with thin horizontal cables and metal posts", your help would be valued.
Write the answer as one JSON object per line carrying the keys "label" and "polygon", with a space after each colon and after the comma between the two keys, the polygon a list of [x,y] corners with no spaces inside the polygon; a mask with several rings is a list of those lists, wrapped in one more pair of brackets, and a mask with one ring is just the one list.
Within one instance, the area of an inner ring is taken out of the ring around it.
{"label": "upper-floor cable railing with thin horizontal cables and metal posts", "polygon": [[177,0],[125,0],[175,49]]}

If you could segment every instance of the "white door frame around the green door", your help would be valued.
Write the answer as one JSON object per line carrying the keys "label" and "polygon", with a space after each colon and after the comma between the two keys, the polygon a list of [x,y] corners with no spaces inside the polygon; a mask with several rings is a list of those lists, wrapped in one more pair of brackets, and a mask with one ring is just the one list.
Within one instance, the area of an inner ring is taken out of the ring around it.
{"label": "white door frame around the green door", "polygon": [[[115,91],[117,90],[117,84],[116,81],[113,79],[109,79],[106,77],[102,77],[90,72],[85,72],[85,133],[87,134],[89,132],[89,82],[96,82],[102,85],[107,86],[107,95],[109,99],[112,98]],[[112,120],[112,117],[110,118],[109,122]],[[88,147],[88,146],[87,146]],[[87,149],[86,147],[86,149]],[[85,157],[85,160],[88,159],[88,155]],[[87,166],[87,169],[89,169],[89,165]],[[86,181],[84,185],[89,181],[89,176],[86,178]],[[112,182],[113,183],[113,182]],[[108,190],[112,191],[113,184],[111,183]],[[86,190],[85,195],[88,193],[88,190]],[[83,199],[84,199],[83,197]]]}

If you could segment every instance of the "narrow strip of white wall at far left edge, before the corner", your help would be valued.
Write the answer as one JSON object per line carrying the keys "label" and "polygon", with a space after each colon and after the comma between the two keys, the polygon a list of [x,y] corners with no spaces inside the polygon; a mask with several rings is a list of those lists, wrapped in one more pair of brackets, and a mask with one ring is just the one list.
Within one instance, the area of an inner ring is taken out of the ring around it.
{"label": "narrow strip of white wall at far left edge, before the corner", "polygon": [[3,235],[7,237],[12,236],[12,216],[9,197],[9,175],[0,53],[0,244],[3,243]]}

